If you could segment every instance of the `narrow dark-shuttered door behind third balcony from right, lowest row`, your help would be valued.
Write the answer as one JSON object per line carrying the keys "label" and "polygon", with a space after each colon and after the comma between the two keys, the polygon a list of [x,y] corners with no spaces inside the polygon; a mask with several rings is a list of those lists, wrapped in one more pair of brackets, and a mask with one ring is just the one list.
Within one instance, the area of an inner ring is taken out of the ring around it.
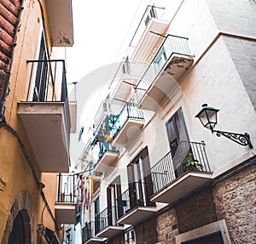
{"label": "narrow dark-shuttered door behind third balcony from right, lowest row", "polygon": [[117,198],[121,195],[120,177],[109,184],[108,189],[108,225],[116,225],[122,209],[118,207]]}

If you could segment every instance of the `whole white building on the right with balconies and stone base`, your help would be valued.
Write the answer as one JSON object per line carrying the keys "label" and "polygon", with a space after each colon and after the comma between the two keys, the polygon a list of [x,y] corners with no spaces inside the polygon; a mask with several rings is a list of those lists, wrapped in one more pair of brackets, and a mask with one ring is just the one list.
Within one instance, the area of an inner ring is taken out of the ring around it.
{"label": "whole white building on the right with balconies and stone base", "polygon": [[83,243],[256,243],[256,3],[169,2],[141,12],[96,112]]}

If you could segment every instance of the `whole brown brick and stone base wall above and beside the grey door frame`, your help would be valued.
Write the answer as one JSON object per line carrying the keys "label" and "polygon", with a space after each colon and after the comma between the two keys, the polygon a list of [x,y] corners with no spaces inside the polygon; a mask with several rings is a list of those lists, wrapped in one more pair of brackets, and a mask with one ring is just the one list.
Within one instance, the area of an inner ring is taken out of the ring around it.
{"label": "whole brown brick and stone base wall above and beside the grey door frame", "polygon": [[158,244],[176,244],[175,236],[224,219],[231,243],[256,244],[256,166],[201,190],[157,217]]}

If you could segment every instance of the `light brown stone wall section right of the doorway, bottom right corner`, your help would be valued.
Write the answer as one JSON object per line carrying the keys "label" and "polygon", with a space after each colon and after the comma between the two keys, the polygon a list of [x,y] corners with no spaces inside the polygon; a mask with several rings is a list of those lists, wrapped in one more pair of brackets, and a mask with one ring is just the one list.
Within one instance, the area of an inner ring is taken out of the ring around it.
{"label": "light brown stone wall section right of the doorway, bottom right corner", "polygon": [[256,166],[217,184],[213,197],[218,218],[224,218],[233,244],[256,243]]}

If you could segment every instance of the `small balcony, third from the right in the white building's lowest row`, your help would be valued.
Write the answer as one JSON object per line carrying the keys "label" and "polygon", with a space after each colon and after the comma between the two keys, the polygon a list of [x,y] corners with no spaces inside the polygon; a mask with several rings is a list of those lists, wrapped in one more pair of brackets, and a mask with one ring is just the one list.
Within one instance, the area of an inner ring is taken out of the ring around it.
{"label": "small balcony, third from the right in the white building's lowest row", "polygon": [[109,209],[107,207],[102,213],[96,216],[95,230],[97,237],[110,239],[123,233],[125,227],[116,223],[118,214],[117,207],[111,207]]}

